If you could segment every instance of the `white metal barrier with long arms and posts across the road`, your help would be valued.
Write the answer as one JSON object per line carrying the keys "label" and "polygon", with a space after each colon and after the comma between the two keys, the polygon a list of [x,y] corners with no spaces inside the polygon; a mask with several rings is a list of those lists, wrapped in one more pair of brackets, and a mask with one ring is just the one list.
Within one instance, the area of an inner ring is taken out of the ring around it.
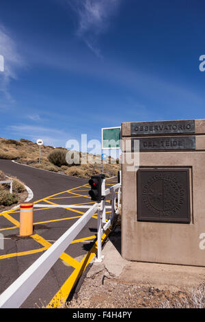
{"label": "white metal barrier with long arms and posts across the road", "polygon": [[[12,285],[10,285],[0,295],[0,308],[19,308],[25,299],[36,288],[44,275],[53,267],[53,264],[58,260],[62,253],[68,248],[72,240],[81,232],[83,227],[92,218],[93,214],[98,211],[98,253],[96,261],[101,262],[101,237],[102,234],[111,225],[115,214],[120,210],[120,188],[121,184],[115,184],[105,190],[105,196],[111,194],[111,206],[105,205],[105,200],[100,203],[94,203],[93,206],[83,206],[83,208],[89,208],[81,218],[76,221],[56,242],[47,249],[36,262],[33,262],[31,266],[20,275]],[[116,207],[116,190],[118,193],[118,208]],[[35,204],[36,207],[59,207],[58,205],[40,205]],[[61,208],[79,208],[75,205],[60,205]],[[106,221],[106,208],[111,208],[111,218]]]}

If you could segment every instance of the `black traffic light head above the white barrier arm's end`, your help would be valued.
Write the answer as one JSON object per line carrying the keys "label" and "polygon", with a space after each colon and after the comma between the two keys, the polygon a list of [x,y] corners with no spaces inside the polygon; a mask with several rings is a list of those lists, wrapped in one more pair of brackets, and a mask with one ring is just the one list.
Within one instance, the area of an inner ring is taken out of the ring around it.
{"label": "black traffic light head above the white barrier arm's end", "polygon": [[105,175],[92,175],[89,180],[91,190],[88,192],[92,201],[100,202],[105,196],[102,195],[102,181]]}

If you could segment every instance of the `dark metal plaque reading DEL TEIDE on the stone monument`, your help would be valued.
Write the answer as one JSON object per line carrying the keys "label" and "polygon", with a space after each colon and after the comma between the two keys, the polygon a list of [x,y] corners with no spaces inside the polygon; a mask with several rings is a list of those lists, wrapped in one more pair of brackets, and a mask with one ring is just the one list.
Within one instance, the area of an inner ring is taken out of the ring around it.
{"label": "dark metal plaque reading DEL TEIDE on the stone monument", "polygon": [[195,136],[155,136],[153,138],[132,138],[132,152],[135,151],[135,140],[139,140],[139,151],[195,150]]}

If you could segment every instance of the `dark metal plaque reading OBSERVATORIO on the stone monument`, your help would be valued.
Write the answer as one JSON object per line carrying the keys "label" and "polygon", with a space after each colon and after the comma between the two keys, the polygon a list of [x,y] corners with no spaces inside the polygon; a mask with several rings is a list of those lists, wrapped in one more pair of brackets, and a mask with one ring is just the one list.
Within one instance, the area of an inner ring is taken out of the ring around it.
{"label": "dark metal plaque reading OBSERVATORIO on the stone monument", "polygon": [[195,120],[131,123],[131,136],[181,133],[195,134]]}

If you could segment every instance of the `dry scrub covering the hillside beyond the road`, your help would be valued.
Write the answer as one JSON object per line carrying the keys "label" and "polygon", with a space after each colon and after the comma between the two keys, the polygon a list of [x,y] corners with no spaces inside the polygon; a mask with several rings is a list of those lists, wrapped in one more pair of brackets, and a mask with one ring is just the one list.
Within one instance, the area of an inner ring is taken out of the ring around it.
{"label": "dry scrub covering the hillside beyond the road", "polygon": [[[81,164],[80,163],[68,164],[66,162],[66,153],[68,149],[64,147],[50,147],[42,145],[41,147],[41,164],[39,163],[39,147],[36,143],[30,140],[21,138],[20,140],[11,140],[0,138],[0,159],[16,160],[16,162],[34,166],[36,168],[55,171],[59,173],[65,173],[66,175],[72,175],[74,177],[89,178],[91,175],[97,175],[102,173],[102,164]],[[93,156],[87,153],[87,156],[96,158],[98,162],[101,162],[100,155]],[[113,162],[115,160],[112,159]],[[104,173],[106,177],[113,177],[117,175],[120,170],[119,160],[116,160],[115,164],[111,164],[111,158],[109,157],[109,163],[104,165]]]}

